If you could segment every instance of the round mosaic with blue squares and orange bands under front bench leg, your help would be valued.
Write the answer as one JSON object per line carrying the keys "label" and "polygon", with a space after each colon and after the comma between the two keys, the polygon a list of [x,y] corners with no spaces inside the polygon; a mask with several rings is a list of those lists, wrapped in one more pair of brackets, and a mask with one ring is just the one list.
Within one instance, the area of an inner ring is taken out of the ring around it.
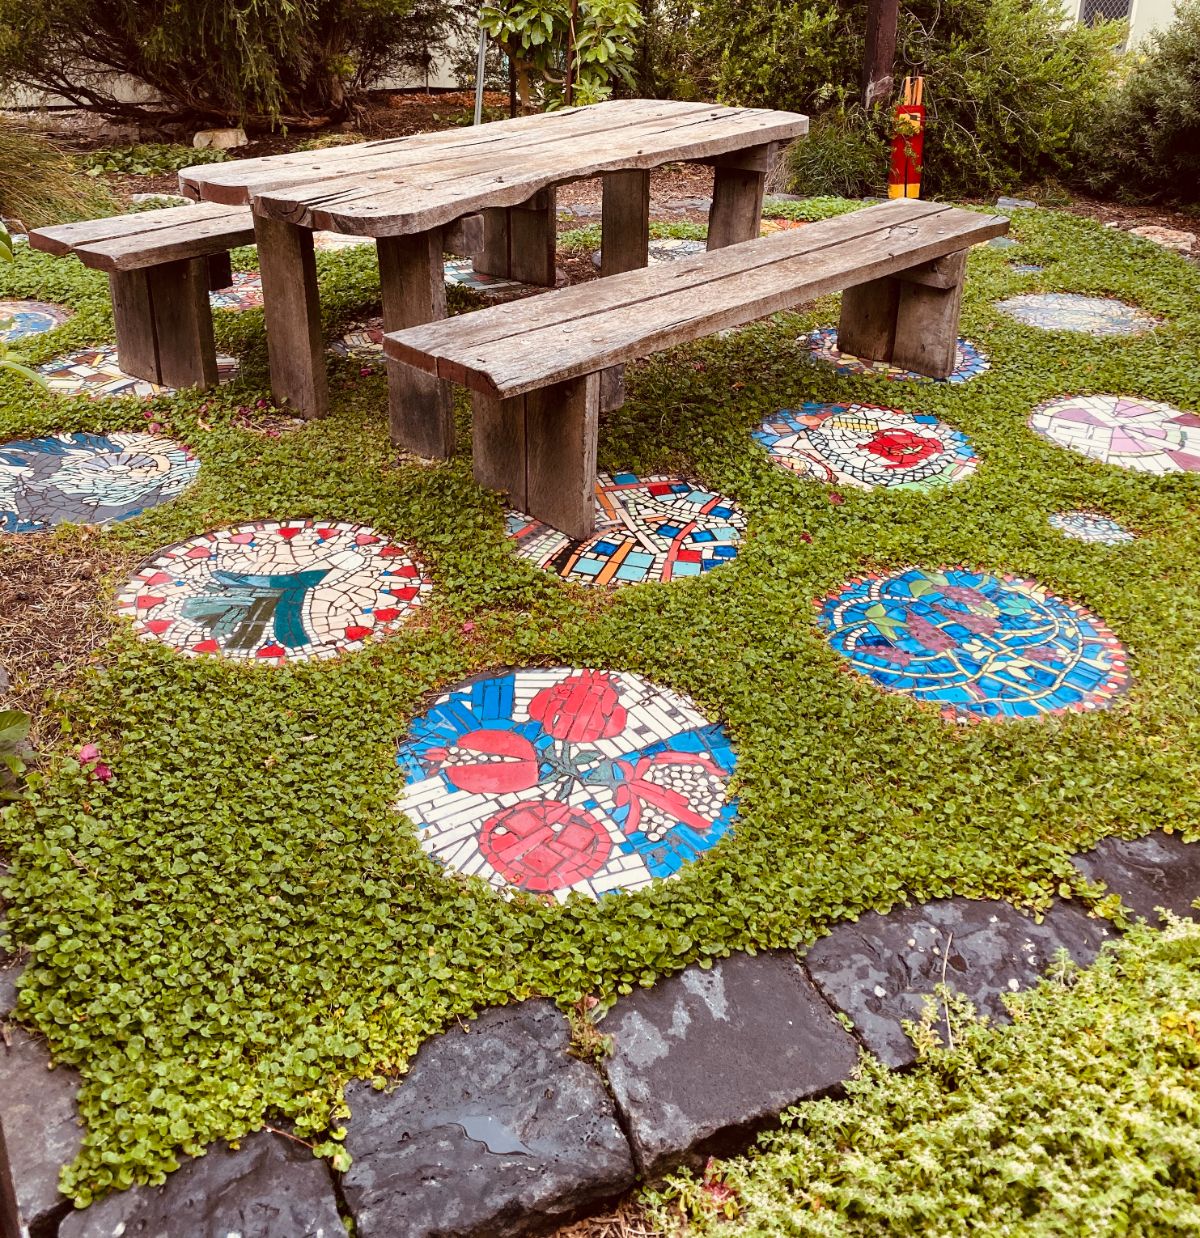
{"label": "round mosaic with blue squares and orange bands under front bench leg", "polygon": [[641,584],[701,576],[737,557],[746,532],[738,505],[691,482],[601,473],[596,532],[576,541],[521,511],[508,513],[516,552],[580,584]]}

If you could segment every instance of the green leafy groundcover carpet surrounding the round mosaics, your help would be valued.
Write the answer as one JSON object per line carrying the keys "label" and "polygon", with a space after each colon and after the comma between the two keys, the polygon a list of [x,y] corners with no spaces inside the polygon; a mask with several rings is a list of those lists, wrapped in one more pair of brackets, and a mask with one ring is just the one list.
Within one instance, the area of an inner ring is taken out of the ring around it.
{"label": "green leafy groundcover carpet surrounding the round mosaics", "polygon": [[[1018,275],[1011,251],[972,254],[963,333],[992,369],[968,384],[838,378],[809,363],[798,340],[836,322],[833,300],[634,366],[630,400],[602,428],[601,465],[702,479],[742,504],[749,535],[720,571],[611,594],[514,555],[503,500],[472,479],[461,396],[464,449],[433,465],[389,446],[384,375],[358,360],[331,360],[329,417],[256,433],[260,311],[218,314],[218,347],[243,361],[219,392],[89,402],[0,375],[0,441],[131,430],[150,413],[202,461],[176,500],[99,535],[126,565],[102,608],[156,548],[254,519],[373,525],[410,543],[436,583],[398,635],[320,665],[185,659],[114,621],[47,704],[61,739],[28,800],[0,818],[0,847],[9,945],[32,951],[20,1018],[80,1072],[87,1129],[69,1193],[87,1202],[160,1180],[181,1154],[264,1120],[336,1153],[346,1080],[402,1071],[425,1037],[483,1006],[533,994],[604,1004],[689,963],[799,946],[903,900],[1090,898],[1074,852],[1107,834],[1195,831],[1196,478],[1106,468],[1025,421],[1072,391],[1200,409],[1200,271],[1069,215],[1023,213],[1014,234],[1022,259],[1046,269]],[[331,332],[378,303],[369,251],[318,264]],[[1116,295],[1163,324],[1093,339],[994,308],[1037,287]],[[35,364],[111,338],[103,275],[73,262],[22,250],[0,269],[0,296],[74,306],[28,342]],[[981,467],[941,490],[831,501],[750,438],[805,400],[936,413],[971,437]],[[1141,537],[1111,550],[1048,526],[1077,508]],[[78,543],[67,527],[41,537],[48,556]],[[1091,714],[968,727],[880,693],[831,651],[812,600],[864,568],[914,563],[1009,571],[1087,605],[1131,651],[1133,690]],[[398,740],[430,693],[531,664],[634,671],[722,718],[738,750],[734,837],[675,880],[601,903],[505,899],[430,859],[394,808]],[[77,759],[84,744],[109,780]]]}

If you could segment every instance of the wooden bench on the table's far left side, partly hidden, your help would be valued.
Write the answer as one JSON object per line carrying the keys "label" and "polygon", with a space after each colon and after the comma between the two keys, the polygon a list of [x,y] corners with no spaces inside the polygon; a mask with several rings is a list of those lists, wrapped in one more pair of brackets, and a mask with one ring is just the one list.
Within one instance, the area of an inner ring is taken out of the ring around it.
{"label": "wooden bench on the table's far left side, partly hidden", "polygon": [[214,386],[208,293],[233,281],[229,250],[254,244],[249,207],[206,202],[30,233],[47,254],[107,271],[116,353],[126,374],[166,386]]}

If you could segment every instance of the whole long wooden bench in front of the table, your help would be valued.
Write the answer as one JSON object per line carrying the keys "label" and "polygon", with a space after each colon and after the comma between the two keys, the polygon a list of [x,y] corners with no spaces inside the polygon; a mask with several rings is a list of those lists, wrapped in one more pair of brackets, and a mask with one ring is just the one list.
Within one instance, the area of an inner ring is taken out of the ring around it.
{"label": "whole long wooden bench in front of the table", "polygon": [[966,256],[997,215],[900,199],[684,261],[384,337],[400,361],[469,387],[474,474],[572,537],[594,530],[601,411],[635,358],[846,290],[838,347],[946,378]]}

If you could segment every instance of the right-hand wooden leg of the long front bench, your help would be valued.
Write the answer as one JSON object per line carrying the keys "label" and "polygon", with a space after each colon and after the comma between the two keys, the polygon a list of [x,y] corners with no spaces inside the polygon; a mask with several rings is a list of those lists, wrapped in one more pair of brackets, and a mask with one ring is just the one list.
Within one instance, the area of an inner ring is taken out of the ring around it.
{"label": "right-hand wooden leg of the long front bench", "polygon": [[842,293],[837,347],[933,379],[955,366],[966,250]]}

